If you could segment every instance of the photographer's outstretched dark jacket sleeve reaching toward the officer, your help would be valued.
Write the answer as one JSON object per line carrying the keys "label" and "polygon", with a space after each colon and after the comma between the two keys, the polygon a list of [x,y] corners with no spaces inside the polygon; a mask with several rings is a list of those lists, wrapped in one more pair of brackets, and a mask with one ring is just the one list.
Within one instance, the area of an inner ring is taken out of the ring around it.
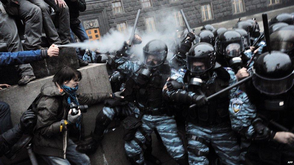
{"label": "photographer's outstretched dark jacket sleeve reaching toward the officer", "polygon": [[77,95],[77,98],[80,104],[92,105],[98,104],[99,102],[104,101],[105,99],[110,98],[110,93],[80,93]]}

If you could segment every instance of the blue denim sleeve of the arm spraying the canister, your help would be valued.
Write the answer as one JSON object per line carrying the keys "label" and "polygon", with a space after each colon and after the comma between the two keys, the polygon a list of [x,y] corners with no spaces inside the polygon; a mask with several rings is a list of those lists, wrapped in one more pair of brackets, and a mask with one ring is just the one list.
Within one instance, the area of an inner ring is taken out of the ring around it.
{"label": "blue denim sleeve of the arm spraying the canister", "polygon": [[0,67],[28,64],[48,57],[47,50],[30,50],[20,52],[1,52]]}

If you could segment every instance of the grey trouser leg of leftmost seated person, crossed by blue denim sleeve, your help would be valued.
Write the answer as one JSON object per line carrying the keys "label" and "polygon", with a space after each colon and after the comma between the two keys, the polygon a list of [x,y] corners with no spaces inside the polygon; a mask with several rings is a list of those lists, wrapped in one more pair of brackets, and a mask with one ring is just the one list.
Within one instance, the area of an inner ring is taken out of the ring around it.
{"label": "grey trouser leg of leftmost seated person, crossed by blue denim sleeve", "polygon": [[[8,52],[23,51],[14,18],[5,13],[0,13],[0,39],[7,44]],[[16,65],[15,69],[20,77],[34,75],[30,64]]]}

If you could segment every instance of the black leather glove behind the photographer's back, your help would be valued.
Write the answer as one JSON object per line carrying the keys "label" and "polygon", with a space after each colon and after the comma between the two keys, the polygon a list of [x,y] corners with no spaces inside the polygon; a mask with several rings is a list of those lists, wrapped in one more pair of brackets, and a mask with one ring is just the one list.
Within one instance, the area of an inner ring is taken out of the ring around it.
{"label": "black leather glove behind the photographer's back", "polygon": [[21,131],[24,133],[27,132],[27,130],[36,124],[36,115],[35,113],[29,109],[23,113],[23,115],[20,117],[20,122],[18,124],[18,127]]}

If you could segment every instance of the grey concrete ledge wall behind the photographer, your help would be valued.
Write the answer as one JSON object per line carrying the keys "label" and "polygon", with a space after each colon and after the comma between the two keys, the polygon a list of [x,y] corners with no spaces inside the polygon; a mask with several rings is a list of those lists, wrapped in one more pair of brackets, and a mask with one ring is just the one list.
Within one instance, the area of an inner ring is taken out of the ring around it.
{"label": "grey concrete ledge wall behind the photographer", "polygon": [[[111,86],[108,80],[108,74],[105,64],[89,64],[89,66],[79,69],[82,72],[82,80],[80,81],[78,92],[94,93],[109,92]],[[30,106],[36,96],[40,93],[42,85],[47,81],[52,81],[53,76],[32,81],[26,86],[17,86],[0,90],[0,100],[7,102],[11,108],[11,119],[13,124],[19,123],[21,114]],[[89,136],[95,127],[95,118],[99,111],[102,110],[103,104],[90,106],[87,113],[83,114],[83,122],[85,125],[85,135]],[[127,164],[124,155],[124,142],[122,139],[122,130],[116,129],[105,135],[102,147],[91,155],[92,164]],[[104,153],[102,152],[104,150]],[[21,152],[13,161],[19,161],[26,156]],[[2,157],[2,159],[5,159]],[[5,161],[10,164],[11,162]]]}

